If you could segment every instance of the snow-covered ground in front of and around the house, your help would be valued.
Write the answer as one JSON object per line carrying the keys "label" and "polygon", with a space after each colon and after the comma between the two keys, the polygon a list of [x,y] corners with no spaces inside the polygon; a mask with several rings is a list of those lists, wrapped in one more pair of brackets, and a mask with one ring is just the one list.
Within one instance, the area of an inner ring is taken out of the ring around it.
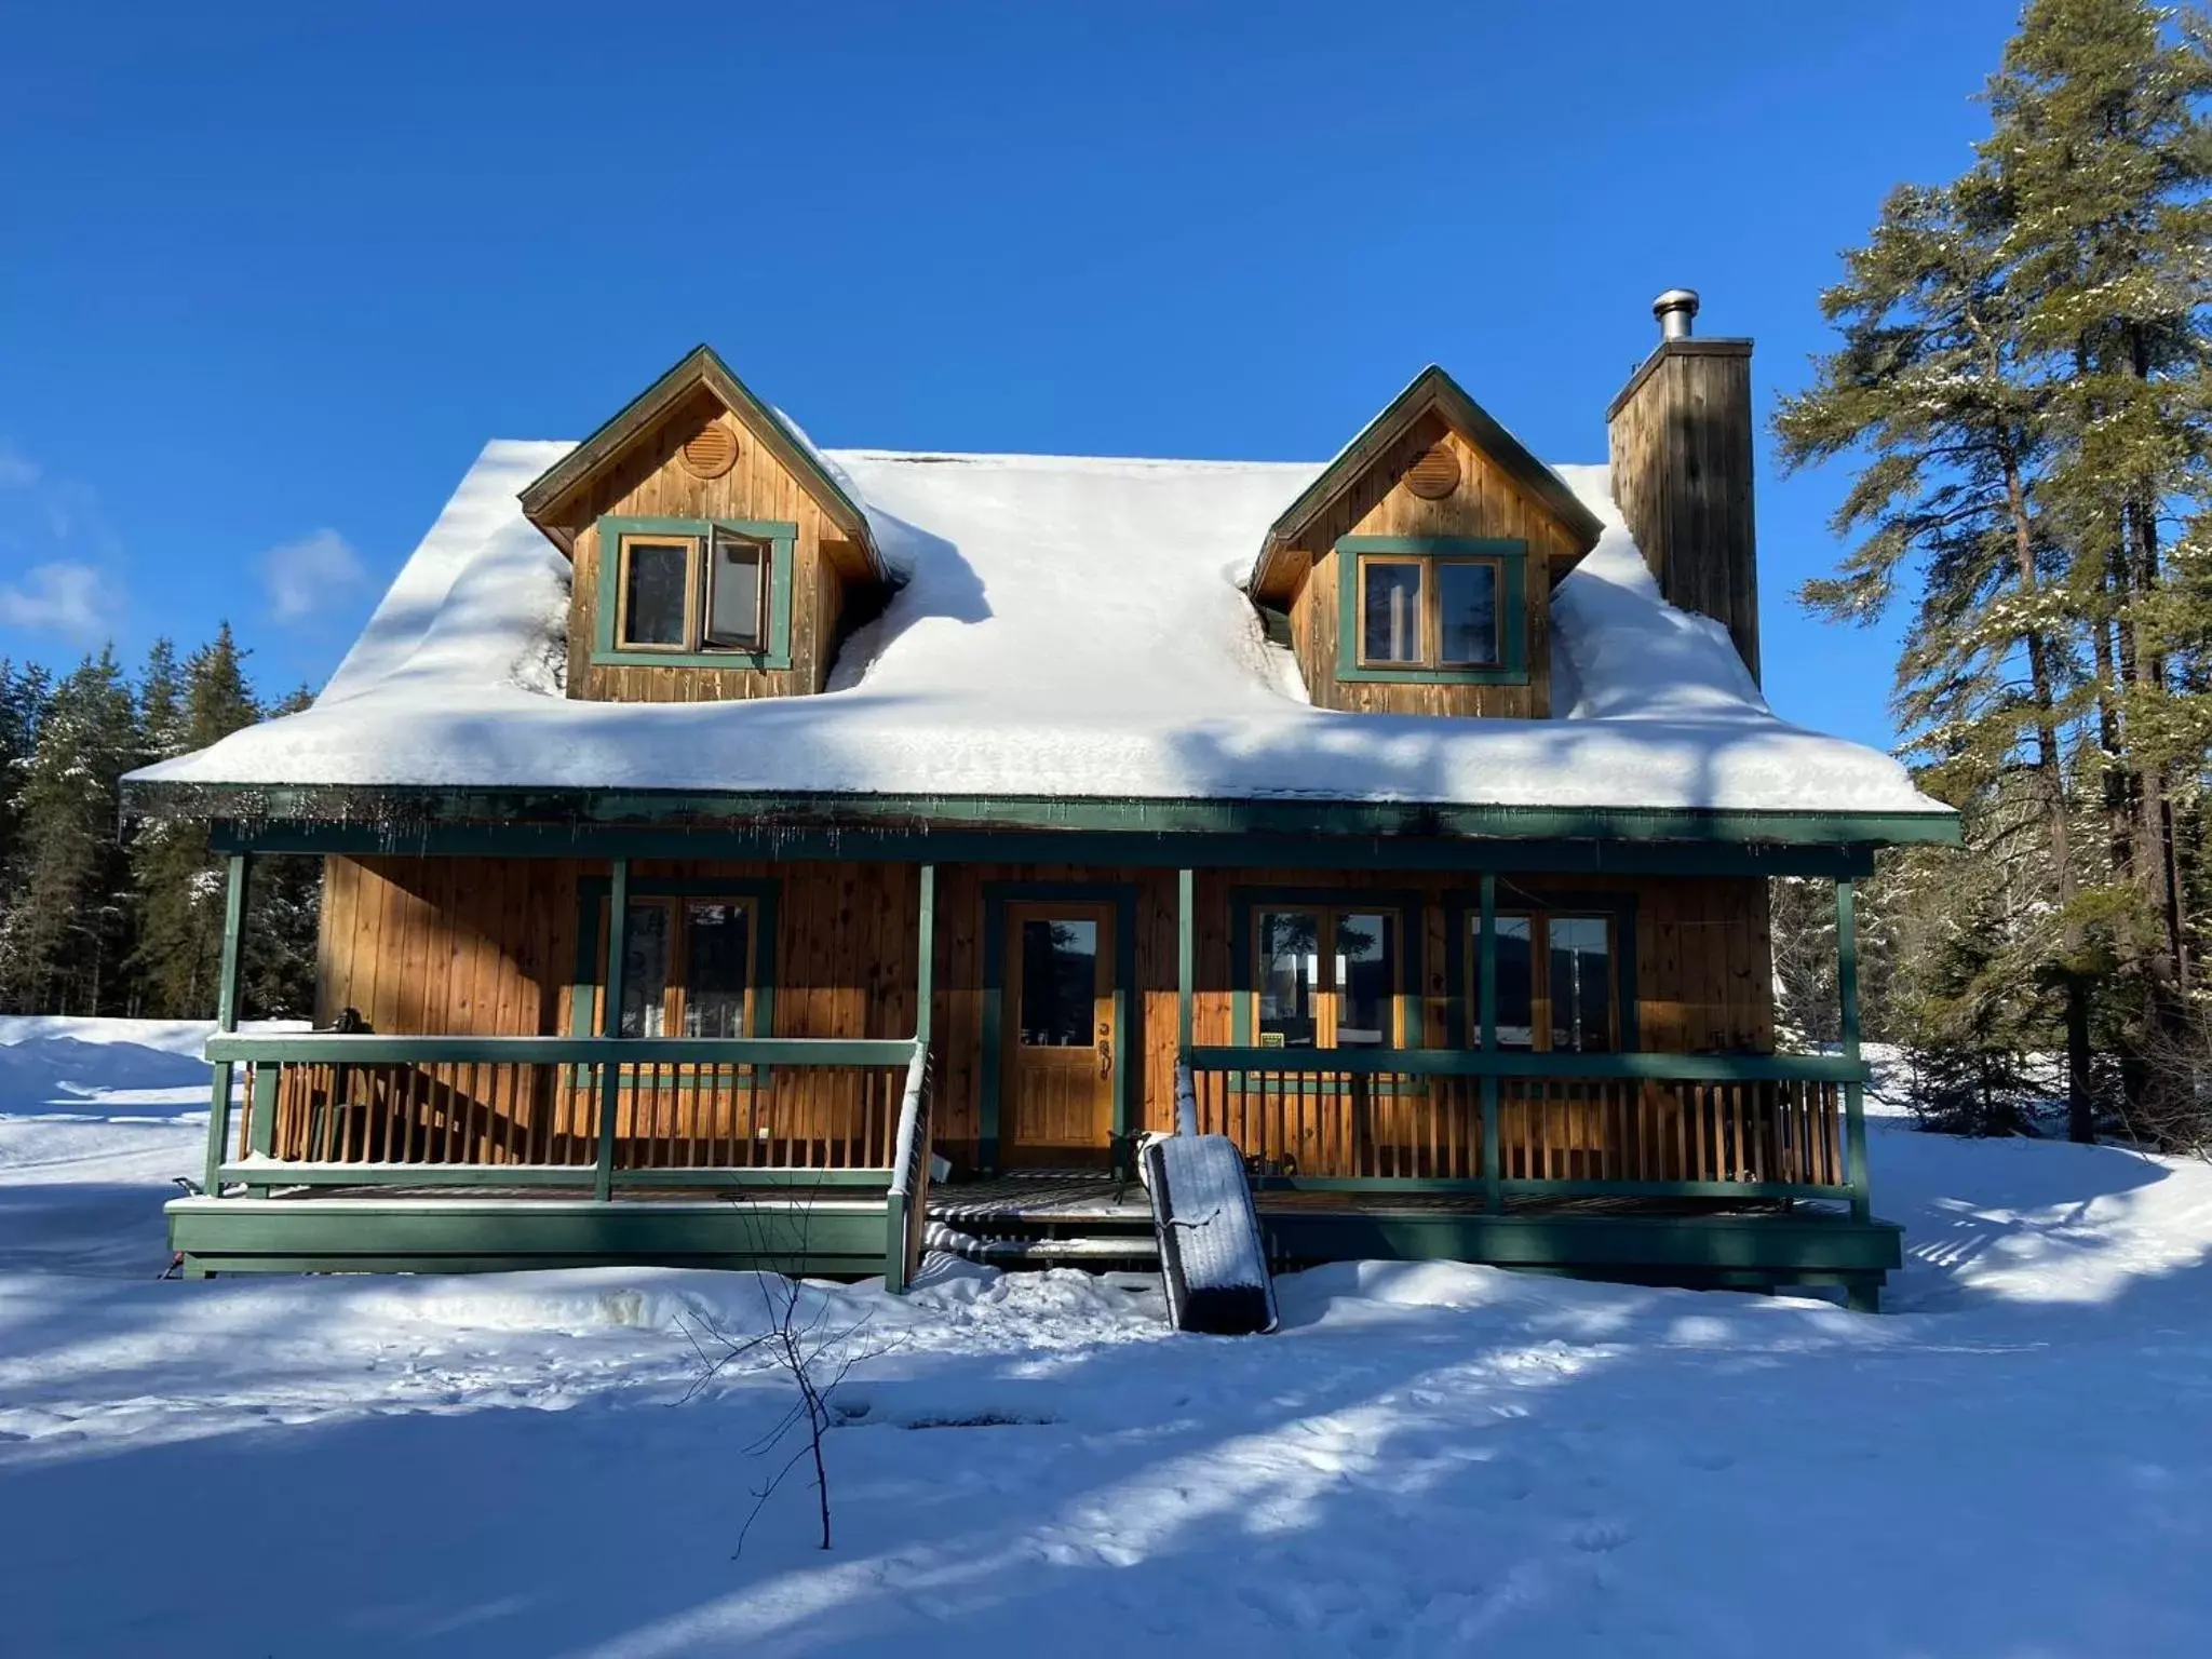
{"label": "snow-covered ground in front of and around the house", "polygon": [[[199,1026],[0,1020],[4,1655],[2212,1652],[2212,1170],[1874,1126],[1891,1314],[1343,1265],[823,1292],[838,1542],[686,1272],[159,1283]],[[1141,1285],[1141,1281],[1128,1281]]]}

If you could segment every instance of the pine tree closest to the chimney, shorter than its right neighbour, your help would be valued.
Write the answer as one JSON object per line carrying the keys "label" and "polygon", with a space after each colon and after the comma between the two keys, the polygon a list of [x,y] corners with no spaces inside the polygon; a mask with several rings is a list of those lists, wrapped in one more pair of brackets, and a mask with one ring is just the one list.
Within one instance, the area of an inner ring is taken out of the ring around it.
{"label": "pine tree closest to the chimney, shorter than its right neighbour", "polygon": [[[2093,956],[2064,743],[2081,670],[2053,586],[2064,557],[2037,504],[2051,394],[2006,285],[2004,206],[1984,173],[1891,192],[1869,243],[1845,254],[1845,281],[1820,296],[1843,345],[1774,429],[1787,467],[1869,456],[1834,522],[1858,542],[1803,597],[1832,619],[1874,622],[1916,582],[1893,706],[1927,763],[1922,785],[1966,805],[2015,768],[2035,779],[2037,814],[2008,825],[2004,849],[2033,852],[2055,905],[2020,933],[2006,971],[2064,987],[2068,1106],[2088,1139]],[[2015,845],[2022,830],[2042,845]]]}

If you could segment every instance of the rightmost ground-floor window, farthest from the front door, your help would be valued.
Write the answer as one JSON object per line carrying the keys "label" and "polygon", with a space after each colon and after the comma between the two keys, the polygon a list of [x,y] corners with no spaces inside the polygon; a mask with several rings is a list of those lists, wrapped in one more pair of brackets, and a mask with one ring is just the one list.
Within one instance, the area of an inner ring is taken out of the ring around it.
{"label": "rightmost ground-floor window, farthest from the front door", "polygon": [[[1482,982],[1482,916],[1467,927],[1467,984]],[[1498,911],[1498,1046],[1610,1053],[1621,1046],[1619,922],[1571,911]],[[1480,1044],[1473,998],[1469,1042]]]}

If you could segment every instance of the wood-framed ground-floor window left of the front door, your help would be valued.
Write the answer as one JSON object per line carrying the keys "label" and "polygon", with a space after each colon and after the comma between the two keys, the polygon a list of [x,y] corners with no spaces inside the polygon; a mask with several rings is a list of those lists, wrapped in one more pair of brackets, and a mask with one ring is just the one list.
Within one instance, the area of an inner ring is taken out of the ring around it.
{"label": "wood-framed ground-floor window left of the front door", "polygon": [[[606,905],[599,905],[606,925]],[[752,898],[630,898],[622,951],[624,1037],[754,1037],[761,914]]]}

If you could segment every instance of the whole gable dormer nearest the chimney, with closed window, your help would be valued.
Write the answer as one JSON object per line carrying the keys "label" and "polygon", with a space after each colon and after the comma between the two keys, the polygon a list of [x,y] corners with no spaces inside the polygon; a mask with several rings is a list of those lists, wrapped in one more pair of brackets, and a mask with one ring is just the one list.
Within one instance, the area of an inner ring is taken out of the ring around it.
{"label": "whole gable dormer nearest the chimney, with closed window", "polygon": [[1274,522],[1252,599],[1287,615],[1321,708],[1542,719],[1551,588],[1599,529],[1429,367]]}

